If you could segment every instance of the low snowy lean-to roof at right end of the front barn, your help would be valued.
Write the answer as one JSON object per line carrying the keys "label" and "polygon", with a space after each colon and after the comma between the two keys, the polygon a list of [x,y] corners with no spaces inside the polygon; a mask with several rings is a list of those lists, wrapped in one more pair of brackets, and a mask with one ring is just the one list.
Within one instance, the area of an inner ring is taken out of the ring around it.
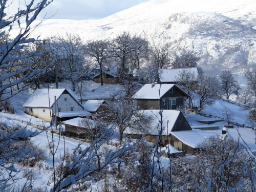
{"label": "low snowy lean-to roof at right end of the front barn", "polygon": [[195,130],[172,132],[171,134],[177,137],[182,143],[193,148],[198,148],[198,144],[206,139]]}

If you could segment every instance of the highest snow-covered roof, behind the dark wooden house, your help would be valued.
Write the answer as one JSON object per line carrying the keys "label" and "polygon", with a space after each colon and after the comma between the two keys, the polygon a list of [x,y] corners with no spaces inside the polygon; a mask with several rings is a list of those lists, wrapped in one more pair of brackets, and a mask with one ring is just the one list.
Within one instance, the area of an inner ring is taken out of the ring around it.
{"label": "highest snow-covered roof, behind the dark wooden house", "polygon": [[176,82],[176,77],[179,76],[179,73],[184,70],[186,72],[195,73],[195,77],[198,77],[197,68],[184,68],[184,69],[161,69],[159,70],[160,81],[161,82]]}

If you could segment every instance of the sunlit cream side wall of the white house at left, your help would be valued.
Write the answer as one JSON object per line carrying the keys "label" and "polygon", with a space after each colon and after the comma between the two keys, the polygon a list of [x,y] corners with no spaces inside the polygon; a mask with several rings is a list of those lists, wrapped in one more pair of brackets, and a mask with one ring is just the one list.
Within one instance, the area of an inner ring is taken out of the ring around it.
{"label": "sunlit cream side wall of the white house at left", "polygon": [[[45,110],[45,112],[44,112]],[[51,114],[49,108],[32,108],[32,113],[30,112],[30,108],[25,108],[25,113],[35,116],[37,118],[43,119],[45,121],[51,121]]]}

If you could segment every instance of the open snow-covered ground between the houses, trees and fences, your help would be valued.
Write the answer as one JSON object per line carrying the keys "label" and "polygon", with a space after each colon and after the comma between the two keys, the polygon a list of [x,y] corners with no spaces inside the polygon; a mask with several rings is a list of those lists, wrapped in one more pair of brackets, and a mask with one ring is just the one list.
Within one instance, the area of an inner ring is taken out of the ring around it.
{"label": "open snow-covered ground between the houses, trees and fences", "polygon": [[[68,86],[68,82],[60,83],[59,87],[60,88],[66,88],[66,87],[70,88]],[[94,91],[92,91],[92,90],[94,90]],[[90,86],[84,87],[83,92],[85,93],[86,97],[102,99],[108,95],[117,93],[119,90],[120,90],[119,86],[104,84],[104,86],[101,87],[100,84],[91,82]],[[0,122],[3,122],[10,126],[12,124],[17,124],[17,123],[19,123],[22,126],[25,126],[25,124],[22,124],[21,122],[8,119],[8,118],[15,118],[15,119],[24,120],[24,121],[31,121],[35,124],[42,123],[41,119],[31,117],[24,113],[22,104],[27,100],[27,98],[29,98],[29,96],[31,94],[32,94],[32,91],[26,90],[22,94],[12,97],[10,100],[15,107],[16,114],[12,115],[12,114],[8,114],[8,113],[0,113]],[[247,115],[248,111],[241,111],[241,108],[239,106],[233,105],[233,104],[225,102],[223,100],[217,100],[217,102],[214,105],[206,106],[205,110],[203,110],[202,112],[206,113],[206,114],[211,114],[211,115],[216,115],[216,116],[222,117],[222,110],[223,110],[224,105],[226,105],[227,108],[229,108],[230,111],[232,111],[234,113],[233,121],[248,125],[248,123],[246,121],[246,115]],[[203,117],[200,115],[195,115],[195,114],[187,114],[186,116],[187,116],[187,120],[188,120],[189,124],[193,125],[193,126],[203,125],[203,124],[197,122],[197,120],[213,120],[214,119],[214,118],[206,118],[206,117]],[[44,122],[44,124],[46,124],[46,122]],[[202,135],[203,137],[209,138],[212,135],[216,135],[216,134],[220,135],[222,132],[222,127],[225,124],[226,123],[223,121],[211,124],[211,125],[219,126],[218,130],[195,130],[195,131],[197,133],[199,133],[200,135]],[[47,125],[49,125],[49,123]],[[36,130],[31,126],[28,126],[28,129]],[[255,143],[255,131],[253,131],[251,129],[247,129],[247,128],[242,128],[242,127],[239,127],[239,129],[237,129],[236,126],[234,127],[234,129],[229,129],[228,131],[229,131],[229,134],[234,139],[237,139],[240,134],[241,138],[246,142],[248,147],[253,152],[256,152],[256,145],[254,144]],[[52,158],[49,156],[50,150],[48,147],[48,145],[49,145],[48,137],[49,137],[49,135],[47,136],[46,132],[42,132],[38,136],[31,138],[31,142],[36,146],[40,146],[41,148],[44,148],[46,150],[46,154],[48,155],[47,160],[44,162],[44,167],[42,167],[40,169],[39,168],[33,169],[34,170],[34,184],[33,185],[34,185],[34,187],[41,187],[43,185],[43,186],[47,186],[47,188],[49,189],[51,184],[47,185],[47,183],[48,183],[49,179],[52,177],[52,175],[51,175],[51,172],[49,170],[47,170],[47,167],[52,166]],[[66,148],[67,151],[72,152],[72,149],[74,149],[77,146],[77,144],[79,144],[81,142],[81,141],[74,140],[71,138],[62,137],[62,136],[59,136],[56,134],[53,134],[53,138],[54,138],[55,143],[57,141],[60,141],[58,150],[57,150],[58,157],[60,157],[63,154],[64,148]],[[113,139],[116,139],[116,140],[118,139],[117,133],[114,133]],[[64,140],[65,140],[65,144],[64,144]],[[243,143],[243,141],[241,141],[241,143]],[[88,143],[83,143],[81,145],[81,147],[85,148],[88,145],[89,145]],[[162,161],[163,161],[163,164],[165,164],[165,163],[167,164],[169,162],[167,158],[163,158]],[[29,169],[32,169],[32,168],[29,168]]]}

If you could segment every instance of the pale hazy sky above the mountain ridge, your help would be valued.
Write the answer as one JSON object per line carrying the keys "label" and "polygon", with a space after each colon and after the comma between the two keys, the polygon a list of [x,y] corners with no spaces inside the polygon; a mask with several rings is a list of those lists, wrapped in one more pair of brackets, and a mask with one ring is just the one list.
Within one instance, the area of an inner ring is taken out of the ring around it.
{"label": "pale hazy sky above the mountain ridge", "polygon": [[[29,0],[20,0],[20,4],[25,5],[24,1],[29,2]],[[42,11],[42,14],[47,13],[47,16],[50,16],[57,12],[52,18],[76,20],[97,19],[146,1],[149,0],[54,0]],[[15,7],[17,5],[18,0],[14,0],[11,10],[16,10],[17,8]]]}

